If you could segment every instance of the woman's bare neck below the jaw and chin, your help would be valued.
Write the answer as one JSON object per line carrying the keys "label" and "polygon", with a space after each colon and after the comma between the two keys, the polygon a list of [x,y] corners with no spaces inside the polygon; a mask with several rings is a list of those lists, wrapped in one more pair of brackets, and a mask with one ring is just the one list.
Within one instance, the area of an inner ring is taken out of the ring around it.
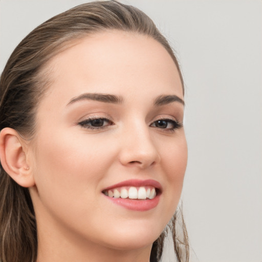
{"label": "woman's bare neck below the jaw and chin", "polygon": [[[49,226],[47,226],[47,224]],[[149,262],[152,245],[118,250],[117,247],[93,243],[58,224],[38,223],[37,262]]]}

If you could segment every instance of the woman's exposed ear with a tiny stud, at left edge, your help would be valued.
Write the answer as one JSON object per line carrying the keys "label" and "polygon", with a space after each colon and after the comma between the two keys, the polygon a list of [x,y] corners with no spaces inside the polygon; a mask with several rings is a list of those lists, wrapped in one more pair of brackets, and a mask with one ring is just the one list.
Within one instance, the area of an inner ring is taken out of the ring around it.
{"label": "woman's exposed ear with a tiny stud, at left edge", "polygon": [[32,170],[27,164],[24,139],[13,128],[3,128],[0,132],[0,160],[9,176],[20,186],[34,186]]}

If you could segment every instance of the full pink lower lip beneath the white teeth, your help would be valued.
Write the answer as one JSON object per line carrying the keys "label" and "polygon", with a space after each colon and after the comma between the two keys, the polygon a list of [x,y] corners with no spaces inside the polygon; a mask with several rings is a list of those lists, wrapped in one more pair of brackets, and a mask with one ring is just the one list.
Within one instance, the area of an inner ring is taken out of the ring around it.
{"label": "full pink lower lip beneath the white teeth", "polygon": [[112,201],[114,204],[122,206],[126,209],[135,211],[147,211],[155,208],[160,200],[160,194],[156,195],[154,199],[138,200],[138,199],[115,199],[104,195],[108,200]]}

